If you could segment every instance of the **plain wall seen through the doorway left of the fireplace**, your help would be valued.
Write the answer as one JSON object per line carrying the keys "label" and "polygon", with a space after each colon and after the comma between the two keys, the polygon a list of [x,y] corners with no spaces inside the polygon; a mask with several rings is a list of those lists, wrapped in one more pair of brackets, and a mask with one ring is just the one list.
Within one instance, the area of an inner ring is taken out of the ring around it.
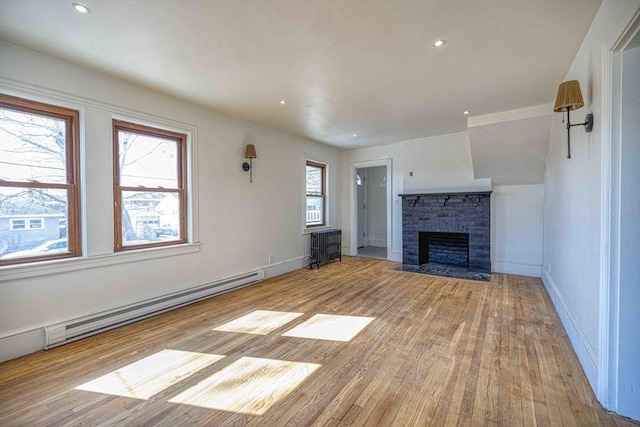
{"label": "plain wall seen through the doorway left of the fireplace", "polygon": [[387,169],[384,166],[367,171],[367,246],[387,246]]}

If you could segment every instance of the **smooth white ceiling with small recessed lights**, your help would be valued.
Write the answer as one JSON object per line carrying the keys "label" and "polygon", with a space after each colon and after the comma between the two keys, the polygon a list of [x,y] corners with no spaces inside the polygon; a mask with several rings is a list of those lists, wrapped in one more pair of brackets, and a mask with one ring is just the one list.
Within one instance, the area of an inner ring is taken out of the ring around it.
{"label": "smooth white ceiling with small recessed lights", "polygon": [[0,38],[338,148],[552,102],[601,3],[77,1],[0,0]]}

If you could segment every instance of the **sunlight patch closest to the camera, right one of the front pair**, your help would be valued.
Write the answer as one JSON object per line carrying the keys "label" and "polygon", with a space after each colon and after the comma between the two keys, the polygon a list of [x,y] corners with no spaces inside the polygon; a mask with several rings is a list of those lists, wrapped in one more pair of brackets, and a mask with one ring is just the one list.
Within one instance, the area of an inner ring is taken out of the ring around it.
{"label": "sunlight patch closest to the camera, right one of the front pair", "polygon": [[169,402],[262,415],[320,366],[242,357]]}

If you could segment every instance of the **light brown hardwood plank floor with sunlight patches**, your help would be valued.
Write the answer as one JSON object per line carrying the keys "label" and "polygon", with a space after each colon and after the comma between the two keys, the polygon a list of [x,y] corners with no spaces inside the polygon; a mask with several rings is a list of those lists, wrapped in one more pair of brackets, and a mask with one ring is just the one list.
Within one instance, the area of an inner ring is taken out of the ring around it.
{"label": "light brown hardwood plank floor with sunlight patches", "polygon": [[632,426],[538,279],[344,257],[0,365],[0,425]]}

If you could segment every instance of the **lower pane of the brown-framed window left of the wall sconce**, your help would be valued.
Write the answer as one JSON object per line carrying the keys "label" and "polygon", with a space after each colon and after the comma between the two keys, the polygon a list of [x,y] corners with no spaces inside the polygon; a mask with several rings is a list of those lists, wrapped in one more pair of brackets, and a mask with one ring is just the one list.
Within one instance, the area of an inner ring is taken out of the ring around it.
{"label": "lower pane of the brown-framed window left of the wall sconce", "polygon": [[122,244],[180,240],[180,197],[177,193],[122,192]]}

